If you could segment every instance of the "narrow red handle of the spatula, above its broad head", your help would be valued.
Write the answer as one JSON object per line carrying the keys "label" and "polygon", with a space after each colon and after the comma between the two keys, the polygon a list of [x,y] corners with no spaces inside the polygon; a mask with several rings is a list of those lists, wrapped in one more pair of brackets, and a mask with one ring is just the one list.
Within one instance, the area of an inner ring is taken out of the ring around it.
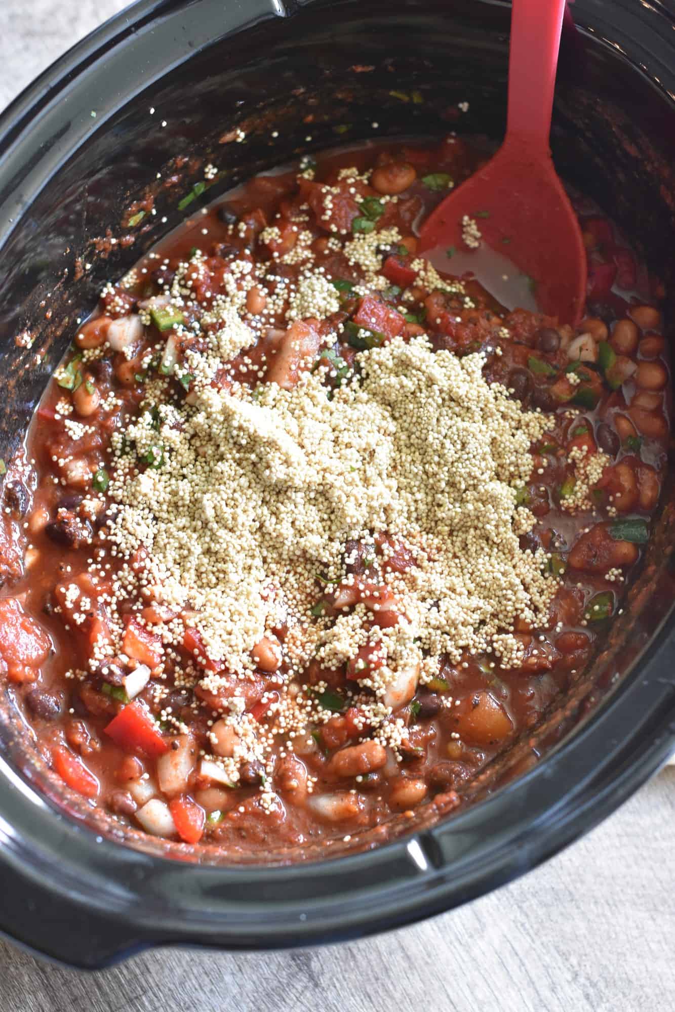
{"label": "narrow red handle of the spatula, above its broad head", "polygon": [[566,0],[513,0],[507,140],[548,151]]}

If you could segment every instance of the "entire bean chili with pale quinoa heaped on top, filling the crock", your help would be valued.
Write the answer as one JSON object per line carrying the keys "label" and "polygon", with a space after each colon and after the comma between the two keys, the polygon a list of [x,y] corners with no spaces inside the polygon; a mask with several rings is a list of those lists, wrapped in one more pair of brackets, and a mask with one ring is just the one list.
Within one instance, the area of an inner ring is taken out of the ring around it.
{"label": "entire bean chili with pale quinoa heaped on top, filling the crock", "polygon": [[421,255],[478,159],[257,177],[73,333],[7,466],[0,654],[116,819],[264,858],[450,812],[618,610],[665,467],[660,313],[599,216],[589,255],[635,276],[592,275],[576,329]]}

